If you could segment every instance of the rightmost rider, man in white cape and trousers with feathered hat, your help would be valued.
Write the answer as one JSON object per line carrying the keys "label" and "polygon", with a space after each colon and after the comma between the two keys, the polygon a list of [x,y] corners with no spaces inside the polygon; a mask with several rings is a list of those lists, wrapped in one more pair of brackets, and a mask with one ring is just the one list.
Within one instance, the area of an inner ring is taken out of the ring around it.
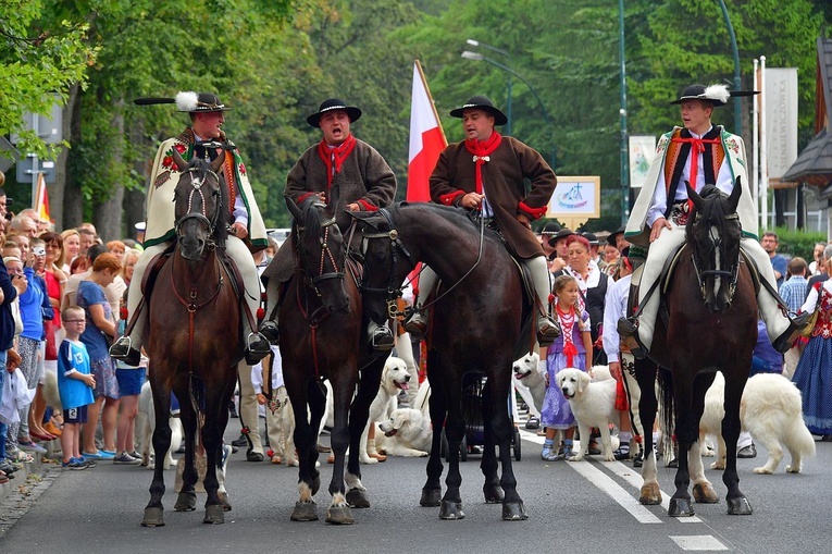
{"label": "rightmost rider, man in white cape and trousers with feathered hat", "polygon": [[625,236],[634,245],[631,257],[644,257],[646,251],[648,255],[633,275],[633,284],[639,283],[635,317],[621,318],[618,330],[639,357],[649,352],[653,343],[659,311],[658,282],[666,260],[685,241],[684,225],[691,209],[685,182],[696,192],[706,184],[715,184],[725,194],[730,194],[735,184],[744,188],[737,207],[743,230],[742,250],[755,266],[753,273],[756,270],[759,275],[757,303],[774,348],[788,349],[806,324],[805,315],[788,317],[777,292],[769,256],[758,242],[757,210],[748,186],[743,139],[721,125],[711,124],[713,110],[724,106],[730,96],[723,85],[691,85],[671,102],[681,106],[684,128],[674,127],[659,139],[646,184],[630,216]]}

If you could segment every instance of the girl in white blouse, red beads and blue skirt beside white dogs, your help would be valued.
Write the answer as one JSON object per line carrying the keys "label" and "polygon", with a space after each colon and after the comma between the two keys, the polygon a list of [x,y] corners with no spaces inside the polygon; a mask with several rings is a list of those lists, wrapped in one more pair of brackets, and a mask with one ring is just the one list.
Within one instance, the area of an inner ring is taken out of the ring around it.
{"label": "girl in white blouse, red beads and blue skirt beside white dogs", "polygon": [[[544,348],[541,358],[546,360],[548,387],[543,401],[541,422],[546,428],[546,441],[541,457],[546,461],[566,459],[572,456],[572,438],[575,433],[575,418],[569,402],[557,385],[557,373],[566,368],[586,371],[592,366],[592,335],[589,315],[579,311],[578,281],[571,275],[560,275],[555,280],[555,316],[560,323],[561,334],[548,348]],[[555,450],[555,434],[563,431],[563,443]],[[588,440],[589,438],[582,438]]]}

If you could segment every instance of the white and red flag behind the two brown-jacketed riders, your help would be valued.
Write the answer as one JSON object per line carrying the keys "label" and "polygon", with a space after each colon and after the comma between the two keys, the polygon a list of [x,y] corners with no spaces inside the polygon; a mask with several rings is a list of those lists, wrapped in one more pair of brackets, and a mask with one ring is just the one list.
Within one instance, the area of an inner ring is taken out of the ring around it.
{"label": "white and red flag behind the two brown-jacketed riders", "polygon": [[448,146],[419,60],[413,63],[413,94],[410,101],[410,157],[407,200],[430,201],[429,178],[439,155]]}

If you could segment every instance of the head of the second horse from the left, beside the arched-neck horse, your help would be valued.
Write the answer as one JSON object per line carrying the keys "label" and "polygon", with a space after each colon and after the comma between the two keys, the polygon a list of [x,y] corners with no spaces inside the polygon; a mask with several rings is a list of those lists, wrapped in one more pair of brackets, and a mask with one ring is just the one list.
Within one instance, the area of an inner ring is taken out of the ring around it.
{"label": "head of the second horse from the left, beside the arched-neck horse", "polygon": [[[306,284],[314,290],[328,311],[348,312],[349,296],[344,287],[347,246],[335,216],[316,196],[300,207],[289,197],[286,204],[295,218],[294,248]],[[332,205],[335,206],[335,200]]]}

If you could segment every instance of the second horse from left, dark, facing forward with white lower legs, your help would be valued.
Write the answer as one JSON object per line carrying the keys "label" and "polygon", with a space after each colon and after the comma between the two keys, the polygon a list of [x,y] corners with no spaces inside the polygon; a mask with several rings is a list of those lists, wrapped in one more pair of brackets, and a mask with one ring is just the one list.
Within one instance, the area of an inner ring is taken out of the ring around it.
{"label": "second horse from left, dark, facing forward with white lower legs", "polygon": [[[287,198],[287,204],[295,218],[291,248],[298,260],[297,272],[281,294],[280,307],[283,378],[295,414],[294,436],[300,464],[300,496],[291,519],[318,519],[312,496],[321,483],[315,469],[316,439],[326,402],[326,379],[332,384],[335,410],[335,427],[330,435],[335,465],[326,521],[352,524],[350,507],[370,505],[361,483],[359,442],[370,404],[378,391],[385,356],[361,346],[365,344],[362,333],[367,325],[358,290],[360,268],[347,255],[332,209],[315,199],[297,207]],[[337,196],[330,205],[337,205]],[[345,477],[347,446],[350,456]]]}

